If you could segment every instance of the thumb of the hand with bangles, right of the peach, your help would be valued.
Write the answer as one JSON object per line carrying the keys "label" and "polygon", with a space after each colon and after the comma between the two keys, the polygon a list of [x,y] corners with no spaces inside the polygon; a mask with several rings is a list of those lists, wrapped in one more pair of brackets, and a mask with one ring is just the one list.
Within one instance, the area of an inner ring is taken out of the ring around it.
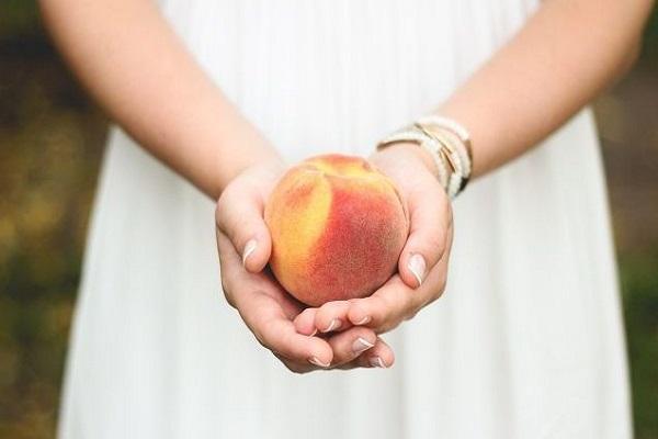
{"label": "thumb of the hand with bangles, right of the peach", "polygon": [[410,230],[398,261],[405,283],[419,288],[446,249],[452,211],[447,195],[436,182],[428,183],[407,196]]}

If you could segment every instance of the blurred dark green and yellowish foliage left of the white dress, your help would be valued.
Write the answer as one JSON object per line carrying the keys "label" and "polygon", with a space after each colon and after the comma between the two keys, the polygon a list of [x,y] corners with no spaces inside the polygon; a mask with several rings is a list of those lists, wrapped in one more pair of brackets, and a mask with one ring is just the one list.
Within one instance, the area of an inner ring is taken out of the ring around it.
{"label": "blurred dark green and yellowish foliage left of the white dress", "polygon": [[105,121],[32,2],[0,1],[0,438],[54,437]]}

